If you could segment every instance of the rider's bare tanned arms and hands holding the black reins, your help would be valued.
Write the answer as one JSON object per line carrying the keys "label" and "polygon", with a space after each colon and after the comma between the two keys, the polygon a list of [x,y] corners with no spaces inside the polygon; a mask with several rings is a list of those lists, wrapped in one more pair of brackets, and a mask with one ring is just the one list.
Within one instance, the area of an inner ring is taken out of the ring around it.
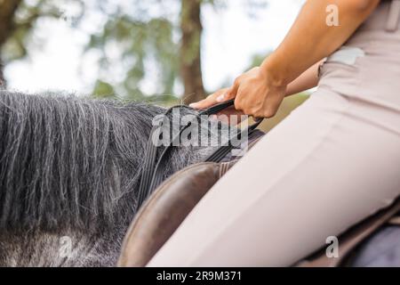
{"label": "rider's bare tanned arms and hands holding the black reins", "polygon": [[[192,106],[206,108],[236,97],[236,110],[255,117],[273,117],[286,94],[316,85],[316,63],[343,45],[379,3],[380,0],[308,0],[282,44],[259,68],[237,77],[227,90]],[[339,11],[337,27],[326,23],[326,8],[331,4]]]}

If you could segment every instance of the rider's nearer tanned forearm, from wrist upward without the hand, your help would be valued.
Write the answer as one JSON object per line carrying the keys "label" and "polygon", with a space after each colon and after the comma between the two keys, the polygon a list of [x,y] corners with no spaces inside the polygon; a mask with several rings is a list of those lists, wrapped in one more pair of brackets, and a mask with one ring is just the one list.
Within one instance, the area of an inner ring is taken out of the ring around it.
{"label": "rider's nearer tanned forearm, from wrist upward without the hand", "polygon": [[[261,64],[268,80],[288,85],[343,45],[380,0],[308,0],[283,43]],[[339,26],[326,22],[327,6],[336,5]]]}

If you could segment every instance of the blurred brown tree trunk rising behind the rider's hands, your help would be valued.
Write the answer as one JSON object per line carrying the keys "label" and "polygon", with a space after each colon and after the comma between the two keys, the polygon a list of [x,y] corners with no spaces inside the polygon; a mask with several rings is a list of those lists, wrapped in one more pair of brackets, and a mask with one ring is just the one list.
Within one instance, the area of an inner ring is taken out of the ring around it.
{"label": "blurred brown tree trunk rising behind the rider's hands", "polygon": [[185,87],[183,102],[204,99],[205,91],[201,67],[202,0],[181,0],[180,77]]}

